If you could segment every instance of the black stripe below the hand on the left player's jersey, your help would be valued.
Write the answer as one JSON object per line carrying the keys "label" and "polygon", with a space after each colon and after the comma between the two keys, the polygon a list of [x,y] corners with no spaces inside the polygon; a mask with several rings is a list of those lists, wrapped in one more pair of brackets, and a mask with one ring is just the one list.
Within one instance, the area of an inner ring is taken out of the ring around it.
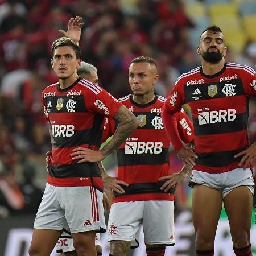
{"label": "black stripe below the hand on the left player's jersey", "polygon": [[100,169],[96,163],[73,163],[63,166],[49,167],[49,175],[55,178],[71,178],[71,177],[101,177]]}

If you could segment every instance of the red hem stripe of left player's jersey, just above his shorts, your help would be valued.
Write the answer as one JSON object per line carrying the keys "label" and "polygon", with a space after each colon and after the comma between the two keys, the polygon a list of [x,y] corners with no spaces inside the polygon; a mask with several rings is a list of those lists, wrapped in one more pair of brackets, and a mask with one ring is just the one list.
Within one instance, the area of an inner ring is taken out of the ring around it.
{"label": "red hem stripe of left player's jersey, just above his shorts", "polygon": [[93,186],[103,190],[103,181],[101,177],[66,177],[55,178],[47,176],[47,183],[56,187],[82,187]]}

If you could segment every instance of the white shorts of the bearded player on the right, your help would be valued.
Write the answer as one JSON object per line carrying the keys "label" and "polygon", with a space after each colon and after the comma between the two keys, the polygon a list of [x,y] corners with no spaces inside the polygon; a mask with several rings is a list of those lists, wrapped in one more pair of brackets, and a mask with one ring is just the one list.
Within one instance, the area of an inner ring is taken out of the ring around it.
{"label": "white shorts of the bearded player on the right", "polygon": [[228,195],[232,189],[240,186],[246,186],[251,193],[254,193],[253,174],[249,168],[237,168],[220,174],[193,170],[191,178],[192,180],[188,182],[190,187],[193,187],[194,184],[201,184],[217,189],[222,192],[222,198]]}

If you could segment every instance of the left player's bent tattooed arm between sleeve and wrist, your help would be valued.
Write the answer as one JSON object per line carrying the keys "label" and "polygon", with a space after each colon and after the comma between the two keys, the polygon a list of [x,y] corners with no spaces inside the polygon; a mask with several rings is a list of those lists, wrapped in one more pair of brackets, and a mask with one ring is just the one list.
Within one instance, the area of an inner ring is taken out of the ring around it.
{"label": "left player's bent tattooed arm between sleeve and wrist", "polygon": [[109,155],[116,150],[127,137],[138,127],[138,120],[125,106],[121,106],[118,112],[114,115],[114,119],[119,122],[117,130],[112,140],[101,149],[104,155]]}

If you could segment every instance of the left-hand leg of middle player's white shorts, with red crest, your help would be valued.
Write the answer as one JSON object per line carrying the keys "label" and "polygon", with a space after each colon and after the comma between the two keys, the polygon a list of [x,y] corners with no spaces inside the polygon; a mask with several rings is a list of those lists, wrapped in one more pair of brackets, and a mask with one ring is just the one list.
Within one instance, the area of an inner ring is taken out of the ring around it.
{"label": "left-hand leg of middle player's white shorts, with red crest", "polygon": [[111,206],[108,241],[133,241],[142,223],[144,201],[118,202]]}

